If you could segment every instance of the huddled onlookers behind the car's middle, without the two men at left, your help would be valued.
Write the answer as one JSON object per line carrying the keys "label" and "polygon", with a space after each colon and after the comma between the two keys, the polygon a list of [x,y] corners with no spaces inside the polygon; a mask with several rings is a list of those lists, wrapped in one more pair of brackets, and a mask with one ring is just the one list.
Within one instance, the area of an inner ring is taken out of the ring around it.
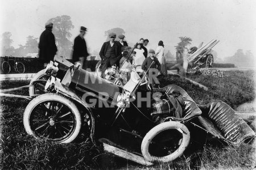
{"label": "huddled onlookers behind the car's middle, without the two men at left", "polygon": [[[100,50],[102,77],[105,70],[113,65],[121,66],[124,61],[133,64],[137,71],[146,71],[150,68],[158,69],[159,74],[167,75],[166,58],[164,56],[163,41],[159,41],[156,50],[150,49],[148,39],[141,38],[134,46],[133,58],[127,58],[127,50],[131,50],[127,42],[124,41],[125,36],[119,35],[119,41],[115,41],[115,33],[109,33],[109,41],[104,42]],[[151,63],[154,63],[151,65]]]}

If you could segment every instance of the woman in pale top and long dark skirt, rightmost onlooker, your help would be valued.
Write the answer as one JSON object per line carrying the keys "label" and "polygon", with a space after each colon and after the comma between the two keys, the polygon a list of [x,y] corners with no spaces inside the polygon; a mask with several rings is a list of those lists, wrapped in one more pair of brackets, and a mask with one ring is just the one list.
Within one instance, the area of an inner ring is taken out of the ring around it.
{"label": "woman in pale top and long dark skirt, rightmost onlooker", "polygon": [[156,48],[156,58],[158,58],[158,61],[160,62],[161,68],[160,68],[160,74],[167,75],[167,69],[166,69],[166,58],[164,57],[164,44],[163,41],[158,42],[158,47]]}

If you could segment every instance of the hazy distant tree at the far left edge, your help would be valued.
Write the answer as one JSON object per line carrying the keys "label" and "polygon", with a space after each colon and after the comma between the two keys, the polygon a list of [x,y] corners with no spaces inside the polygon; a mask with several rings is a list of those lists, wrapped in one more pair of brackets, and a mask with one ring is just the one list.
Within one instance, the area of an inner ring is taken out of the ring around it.
{"label": "hazy distant tree at the far left edge", "polygon": [[11,32],[4,32],[1,36],[1,56],[13,56],[14,47],[11,46],[13,40],[11,39]]}

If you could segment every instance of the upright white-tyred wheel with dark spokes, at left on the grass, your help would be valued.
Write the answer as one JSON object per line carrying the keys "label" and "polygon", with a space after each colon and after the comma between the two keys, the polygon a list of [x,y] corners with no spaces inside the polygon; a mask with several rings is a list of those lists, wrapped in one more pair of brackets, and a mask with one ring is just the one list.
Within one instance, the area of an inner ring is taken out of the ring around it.
{"label": "upright white-tyred wheel with dark spokes, at left on the grass", "polygon": [[57,94],[43,94],[27,105],[23,124],[27,133],[37,139],[70,143],[81,129],[81,116],[76,105]]}

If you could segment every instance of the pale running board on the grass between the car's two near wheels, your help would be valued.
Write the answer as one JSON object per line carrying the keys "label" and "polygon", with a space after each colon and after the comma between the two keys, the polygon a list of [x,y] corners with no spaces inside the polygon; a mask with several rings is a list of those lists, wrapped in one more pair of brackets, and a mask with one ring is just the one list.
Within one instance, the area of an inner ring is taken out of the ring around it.
{"label": "pale running board on the grass between the car's two near wheels", "polygon": [[131,160],[133,162],[136,162],[136,163],[139,163],[139,164],[142,164],[142,165],[146,165],[146,166],[154,165],[154,163],[147,162],[142,156],[135,155],[131,152],[122,150],[121,148],[111,146],[111,145],[106,144],[104,142],[103,142],[103,147],[104,147],[105,151],[110,152],[114,155],[120,156],[121,158],[125,158],[125,159]]}

